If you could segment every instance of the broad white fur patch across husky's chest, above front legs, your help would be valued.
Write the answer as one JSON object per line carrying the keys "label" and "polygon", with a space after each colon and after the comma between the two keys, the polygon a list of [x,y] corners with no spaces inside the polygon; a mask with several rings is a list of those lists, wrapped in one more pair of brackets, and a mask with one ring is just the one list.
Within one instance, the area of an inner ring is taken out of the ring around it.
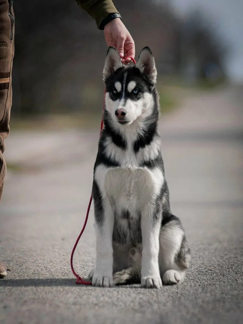
{"label": "broad white fur patch across husky's chest, above front legs", "polygon": [[163,185],[160,168],[107,168],[99,165],[95,179],[103,198],[108,198],[112,207],[129,212],[141,210],[155,199]]}

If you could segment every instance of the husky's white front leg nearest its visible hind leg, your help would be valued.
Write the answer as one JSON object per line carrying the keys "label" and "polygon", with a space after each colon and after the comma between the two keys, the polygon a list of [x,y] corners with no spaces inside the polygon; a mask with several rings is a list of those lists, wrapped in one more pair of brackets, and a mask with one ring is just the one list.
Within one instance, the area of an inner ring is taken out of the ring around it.
{"label": "husky's white front leg nearest its visible hind leg", "polygon": [[153,211],[153,206],[148,204],[141,214],[143,242],[141,286],[161,288],[162,281],[158,264],[160,218],[155,216]]}

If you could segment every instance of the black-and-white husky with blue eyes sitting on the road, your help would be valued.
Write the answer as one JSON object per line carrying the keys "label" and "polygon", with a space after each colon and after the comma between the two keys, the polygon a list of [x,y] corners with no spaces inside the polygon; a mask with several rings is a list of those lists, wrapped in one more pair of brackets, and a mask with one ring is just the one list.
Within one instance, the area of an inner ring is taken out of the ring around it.
{"label": "black-and-white husky with blue eyes sitting on the road", "polygon": [[170,211],[158,132],[157,71],[148,47],[124,66],[109,47],[104,129],[94,166],[96,265],[94,286],[140,283],[160,288],[181,282],[190,250]]}

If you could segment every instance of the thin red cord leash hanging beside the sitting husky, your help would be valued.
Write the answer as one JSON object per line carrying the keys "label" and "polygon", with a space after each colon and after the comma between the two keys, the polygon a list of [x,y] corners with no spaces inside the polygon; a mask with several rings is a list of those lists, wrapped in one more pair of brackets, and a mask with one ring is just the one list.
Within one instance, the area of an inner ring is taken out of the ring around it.
{"label": "thin red cord leash hanging beside the sitting husky", "polygon": [[[131,56],[126,56],[124,58],[124,60],[127,58],[127,57],[130,57],[130,59],[133,61],[134,64],[136,64],[136,61],[134,60],[133,57]],[[102,132],[102,129],[103,129],[103,124],[104,124],[104,112],[105,112],[105,100],[106,100],[106,88],[105,88],[105,93],[104,93],[104,101],[103,101],[103,112],[102,112],[102,119],[101,119],[101,125],[100,125],[100,135],[101,135],[101,132]],[[99,135],[99,137],[100,137]],[[71,253],[71,260],[70,260],[70,263],[71,263],[71,270],[73,272],[73,274],[75,275],[75,277],[77,278],[76,280],[76,284],[92,284],[91,281],[85,281],[83,280],[75,271],[74,271],[74,268],[73,268],[73,255],[74,255],[74,252],[76,250],[76,247],[77,247],[77,244],[78,244],[78,241],[80,240],[80,237],[82,236],[84,230],[85,230],[85,227],[86,227],[86,224],[87,224],[87,220],[88,220],[88,216],[89,216],[89,210],[90,210],[90,206],[91,206],[91,202],[92,202],[92,193],[91,193],[91,196],[90,196],[90,199],[89,199],[89,204],[88,204],[88,208],[87,208],[87,213],[86,213],[86,217],[85,217],[85,221],[84,221],[84,226],[74,244],[74,247],[73,247],[73,250],[72,250],[72,253]]]}

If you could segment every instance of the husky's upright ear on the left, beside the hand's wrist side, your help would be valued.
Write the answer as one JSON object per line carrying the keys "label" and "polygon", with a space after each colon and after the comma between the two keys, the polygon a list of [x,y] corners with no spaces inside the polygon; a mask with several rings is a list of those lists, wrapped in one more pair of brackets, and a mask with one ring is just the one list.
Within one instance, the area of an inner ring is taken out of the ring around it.
{"label": "husky's upright ear on the left, beside the hand's wrist side", "polygon": [[103,70],[103,80],[106,81],[119,67],[122,67],[119,53],[115,47],[110,46],[108,48],[105,60],[105,66]]}

